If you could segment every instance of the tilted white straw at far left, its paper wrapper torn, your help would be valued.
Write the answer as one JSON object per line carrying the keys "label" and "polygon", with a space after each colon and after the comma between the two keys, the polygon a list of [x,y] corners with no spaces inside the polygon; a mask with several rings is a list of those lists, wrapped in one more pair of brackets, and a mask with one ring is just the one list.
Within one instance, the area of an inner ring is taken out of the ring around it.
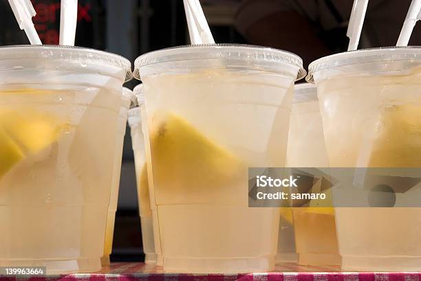
{"label": "tilted white straw at far left, its paper wrapper torn", "polygon": [[28,37],[32,45],[43,45],[36,33],[32,17],[35,17],[36,12],[30,0],[9,0],[10,7],[13,10],[14,17],[19,23],[19,28],[25,30],[26,37]]}

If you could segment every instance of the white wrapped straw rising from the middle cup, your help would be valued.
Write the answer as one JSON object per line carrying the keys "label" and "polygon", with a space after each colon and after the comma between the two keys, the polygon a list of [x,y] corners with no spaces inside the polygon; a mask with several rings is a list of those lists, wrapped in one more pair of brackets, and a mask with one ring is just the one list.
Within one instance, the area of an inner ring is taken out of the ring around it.
{"label": "white wrapped straw rising from the middle cup", "polygon": [[188,33],[192,44],[215,44],[199,0],[184,0]]}

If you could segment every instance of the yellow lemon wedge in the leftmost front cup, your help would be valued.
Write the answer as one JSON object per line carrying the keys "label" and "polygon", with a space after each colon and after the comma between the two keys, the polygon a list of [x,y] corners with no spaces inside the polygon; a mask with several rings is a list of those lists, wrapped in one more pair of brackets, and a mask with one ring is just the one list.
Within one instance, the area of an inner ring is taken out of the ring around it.
{"label": "yellow lemon wedge in the leftmost front cup", "polygon": [[0,111],[0,178],[28,154],[37,154],[58,138],[63,125],[34,110]]}

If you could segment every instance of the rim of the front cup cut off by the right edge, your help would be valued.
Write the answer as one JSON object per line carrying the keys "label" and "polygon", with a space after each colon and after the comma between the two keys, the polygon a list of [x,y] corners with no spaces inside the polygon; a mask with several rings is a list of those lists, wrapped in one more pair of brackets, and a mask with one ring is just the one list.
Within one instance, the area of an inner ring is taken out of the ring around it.
{"label": "rim of the front cup cut off by the right edge", "polygon": [[386,61],[421,61],[421,46],[367,48],[324,56],[308,65],[305,81],[314,83],[314,73],[334,67]]}

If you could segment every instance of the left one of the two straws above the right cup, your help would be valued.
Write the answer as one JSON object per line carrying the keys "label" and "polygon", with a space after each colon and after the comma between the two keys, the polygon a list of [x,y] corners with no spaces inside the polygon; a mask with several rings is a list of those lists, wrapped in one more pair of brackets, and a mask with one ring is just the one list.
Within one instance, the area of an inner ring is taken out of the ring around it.
{"label": "left one of the two straws above the right cup", "polygon": [[347,30],[347,37],[349,37],[348,51],[354,51],[358,48],[367,5],[368,0],[354,0]]}

